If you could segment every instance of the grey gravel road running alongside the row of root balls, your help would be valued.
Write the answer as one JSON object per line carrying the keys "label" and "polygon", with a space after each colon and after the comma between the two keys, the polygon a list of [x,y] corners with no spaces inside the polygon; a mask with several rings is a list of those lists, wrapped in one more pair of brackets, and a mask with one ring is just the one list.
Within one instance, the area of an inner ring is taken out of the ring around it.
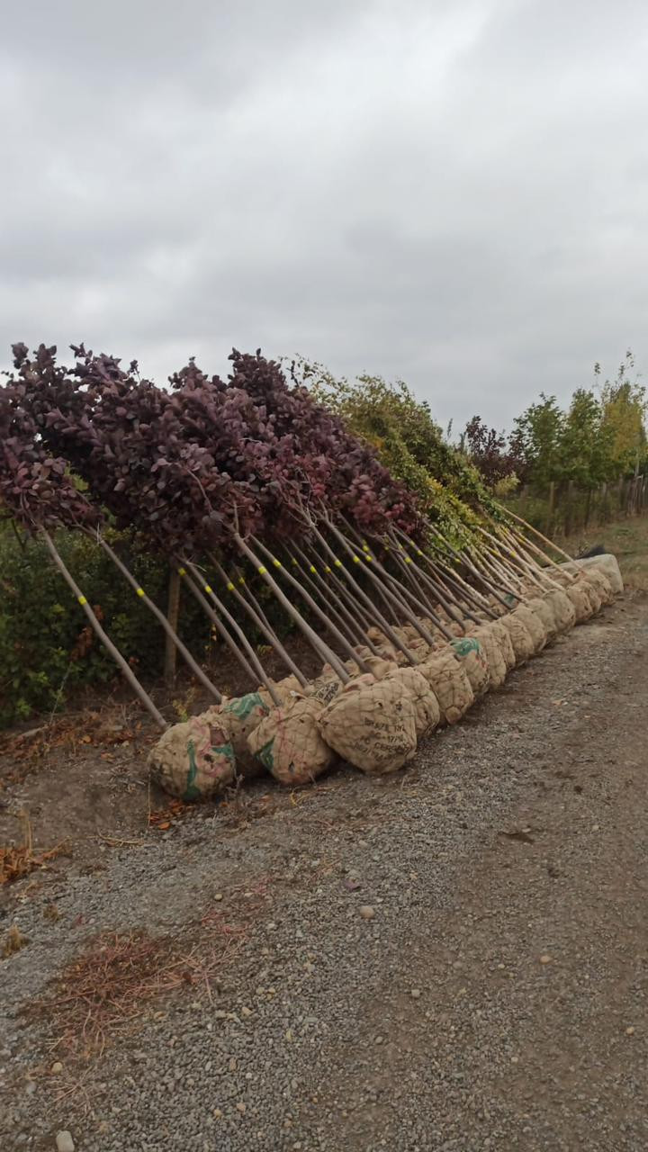
{"label": "grey gravel road running alongside the row of root balls", "polygon": [[[647,655],[630,594],[397,779],[187,820],[18,900],[2,1150],[645,1152]],[[228,950],[100,1058],[52,1047],[65,1009],[21,1009],[131,929]]]}

